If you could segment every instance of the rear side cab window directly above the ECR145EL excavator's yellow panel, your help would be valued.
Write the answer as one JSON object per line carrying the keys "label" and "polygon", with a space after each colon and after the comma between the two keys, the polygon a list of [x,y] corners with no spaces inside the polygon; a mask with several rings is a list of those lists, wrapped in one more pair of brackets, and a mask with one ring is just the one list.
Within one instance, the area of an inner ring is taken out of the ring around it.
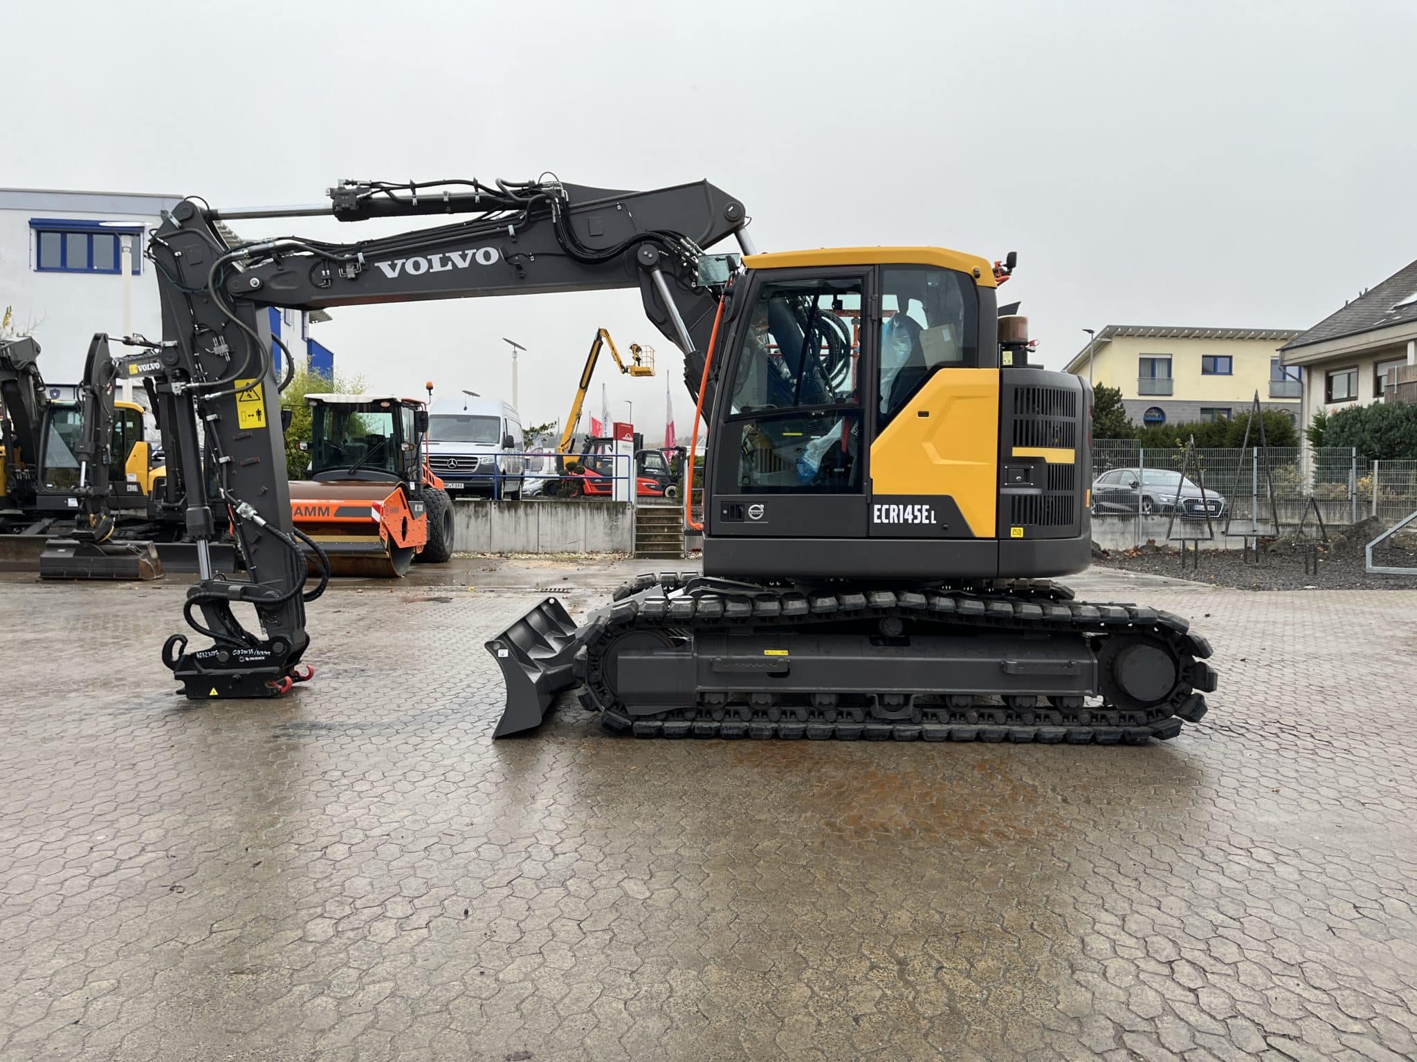
{"label": "rear side cab window directly above the ECR145EL excavator's yellow panel", "polygon": [[884,429],[939,370],[978,364],[973,279],[932,266],[883,266],[876,430]]}

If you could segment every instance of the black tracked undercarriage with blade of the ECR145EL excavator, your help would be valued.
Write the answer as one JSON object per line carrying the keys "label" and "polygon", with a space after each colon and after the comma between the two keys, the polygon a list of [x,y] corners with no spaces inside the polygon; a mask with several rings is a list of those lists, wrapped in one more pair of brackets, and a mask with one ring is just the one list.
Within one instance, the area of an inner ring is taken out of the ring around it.
{"label": "black tracked undercarriage with blade of the ECR145EL excavator", "polygon": [[1180,616],[1090,605],[1043,581],[767,586],[646,575],[577,627],[555,599],[487,649],[507,711],[555,694],[639,738],[1141,743],[1180,733],[1216,688]]}

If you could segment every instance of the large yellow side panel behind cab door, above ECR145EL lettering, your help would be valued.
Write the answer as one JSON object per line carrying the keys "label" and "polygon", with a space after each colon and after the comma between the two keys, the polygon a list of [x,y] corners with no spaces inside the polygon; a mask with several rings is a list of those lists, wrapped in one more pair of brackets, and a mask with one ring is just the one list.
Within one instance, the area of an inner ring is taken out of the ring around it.
{"label": "large yellow side panel behind cab door, above ECR145EL lettering", "polygon": [[[928,411],[930,416],[921,416]],[[999,504],[999,370],[935,372],[871,443],[876,494],[948,494],[975,538]]]}

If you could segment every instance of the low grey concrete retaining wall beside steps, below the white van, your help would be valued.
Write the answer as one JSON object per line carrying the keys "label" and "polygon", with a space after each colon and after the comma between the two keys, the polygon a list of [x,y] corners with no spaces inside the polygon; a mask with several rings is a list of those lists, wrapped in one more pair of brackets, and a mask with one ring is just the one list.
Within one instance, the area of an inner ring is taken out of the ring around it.
{"label": "low grey concrete retaining wall beside steps, below the white van", "polygon": [[452,513],[453,548],[461,552],[628,554],[635,547],[628,501],[453,501]]}

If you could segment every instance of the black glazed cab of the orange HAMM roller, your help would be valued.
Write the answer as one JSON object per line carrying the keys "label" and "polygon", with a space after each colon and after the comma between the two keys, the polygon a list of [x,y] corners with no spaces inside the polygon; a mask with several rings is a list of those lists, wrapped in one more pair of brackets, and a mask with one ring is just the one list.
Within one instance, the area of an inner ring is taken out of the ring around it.
{"label": "black glazed cab of the orange HAMM roller", "polygon": [[422,481],[428,411],[397,395],[306,395],[316,483]]}

